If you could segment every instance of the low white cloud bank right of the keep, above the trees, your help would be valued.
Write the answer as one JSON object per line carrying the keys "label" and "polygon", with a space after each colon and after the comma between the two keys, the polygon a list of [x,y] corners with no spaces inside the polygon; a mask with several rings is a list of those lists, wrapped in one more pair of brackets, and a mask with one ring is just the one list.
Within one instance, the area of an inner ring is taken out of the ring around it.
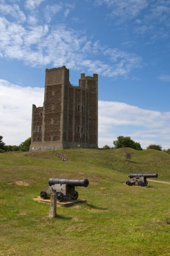
{"label": "low white cloud bank right of the keep, above the trees", "polygon": [[100,147],[120,135],[131,136],[143,148],[150,144],[170,148],[170,112],[161,113],[130,106],[123,102],[98,102],[98,123]]}

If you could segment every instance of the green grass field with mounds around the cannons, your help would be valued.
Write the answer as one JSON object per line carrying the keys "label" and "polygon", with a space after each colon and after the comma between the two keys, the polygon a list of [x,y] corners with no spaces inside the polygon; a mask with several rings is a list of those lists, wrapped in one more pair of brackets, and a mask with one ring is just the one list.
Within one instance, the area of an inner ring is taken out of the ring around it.
{"label": "green grass field with mounds around the cannons", "polygon": [[[170,182],[170,155],[158,150],[59,150],[0,154],[0,255],[170,255],[170,185],[127,186],[128,173],[158,173]],[[131,159],[125,159],[125,153]],[[88,204],[58,207],[33,198],[50,177],[89,179]]]}

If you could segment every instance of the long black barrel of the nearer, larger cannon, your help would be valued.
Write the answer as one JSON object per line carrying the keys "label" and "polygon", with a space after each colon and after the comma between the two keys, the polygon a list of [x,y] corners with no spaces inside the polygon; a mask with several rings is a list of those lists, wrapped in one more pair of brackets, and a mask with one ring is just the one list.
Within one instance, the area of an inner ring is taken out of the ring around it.
{"label": "long black barrel of the nearer, larger cannon", "polygon": [[49,179],[49,186],[52,186],[54,184],[68,184],[68,185],[71,185],[71,186],[88,187],[89,180],[88,179],[72,180],[72,179],[50,178]]}

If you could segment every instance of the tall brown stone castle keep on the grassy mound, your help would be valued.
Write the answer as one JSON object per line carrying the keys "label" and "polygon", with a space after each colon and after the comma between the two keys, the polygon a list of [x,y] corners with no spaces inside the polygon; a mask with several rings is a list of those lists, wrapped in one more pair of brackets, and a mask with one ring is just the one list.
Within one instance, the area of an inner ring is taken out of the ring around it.
{"label": "tall brown stone castle keep on the grassy mound", "polygon": [[45,70],[43,107],[33,105],[30,150],[98,147],[98,75],[81,74],[72,86],[69,70]]}

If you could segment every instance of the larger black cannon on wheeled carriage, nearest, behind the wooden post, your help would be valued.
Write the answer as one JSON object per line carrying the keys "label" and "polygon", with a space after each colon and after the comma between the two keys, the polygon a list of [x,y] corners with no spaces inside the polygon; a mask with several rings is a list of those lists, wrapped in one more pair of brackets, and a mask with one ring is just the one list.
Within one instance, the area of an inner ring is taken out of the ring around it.
{"label": "larger black cannon on wheeled carriage, nearest, behind the wooden post", "polygon": [[75,186],[88,187],[89,180],[72,180],[72,179],[49,179],[49,188],[44,189],[40,196],[42,199],[49,199],[52,193],[56,194],[58,202],[65,200],[76,200],[79,197],[79,193],[75,191]]}

